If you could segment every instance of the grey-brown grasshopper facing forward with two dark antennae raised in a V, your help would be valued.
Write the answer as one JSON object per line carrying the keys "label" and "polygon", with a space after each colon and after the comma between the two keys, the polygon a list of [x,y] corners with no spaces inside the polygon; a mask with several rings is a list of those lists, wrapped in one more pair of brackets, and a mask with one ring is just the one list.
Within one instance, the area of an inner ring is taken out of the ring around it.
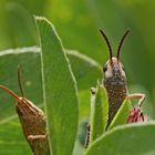
{"label": "grey-brown grasshopper facing forward with two dark antennae raised in a V", "polygon": [[137,99],[138,106],[141,106],[142,102],[145,99],[145,94],[142,93],[128,94],[124,66],[120,61],[121,49],[124,39],[128,34],[130,30],[127,30],[123,34],[117,48],[116,56],[113,56],[113,50],[111,48],[106,34],[102,30],[100,30],[100,32],[103,35],[110,52],[110,59],[107,60],[107,62],[103,68],[103,72],[104,72],[103,85],[106,90],[107,97],[108,97],[108,120],[106,126],[107,128],[125,99],[126,100]]}

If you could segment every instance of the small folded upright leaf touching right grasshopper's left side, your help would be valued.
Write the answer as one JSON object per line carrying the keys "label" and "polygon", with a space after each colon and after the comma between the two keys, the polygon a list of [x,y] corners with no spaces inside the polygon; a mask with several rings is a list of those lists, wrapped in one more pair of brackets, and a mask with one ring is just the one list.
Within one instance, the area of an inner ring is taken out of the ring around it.
{"label": "small folded upright leaf touching right grasshopper's left side", "polygon": [[95,95],[91,99],[91,142],[100,137],[107,124],[108,101],[105,89],[97,83]]}

